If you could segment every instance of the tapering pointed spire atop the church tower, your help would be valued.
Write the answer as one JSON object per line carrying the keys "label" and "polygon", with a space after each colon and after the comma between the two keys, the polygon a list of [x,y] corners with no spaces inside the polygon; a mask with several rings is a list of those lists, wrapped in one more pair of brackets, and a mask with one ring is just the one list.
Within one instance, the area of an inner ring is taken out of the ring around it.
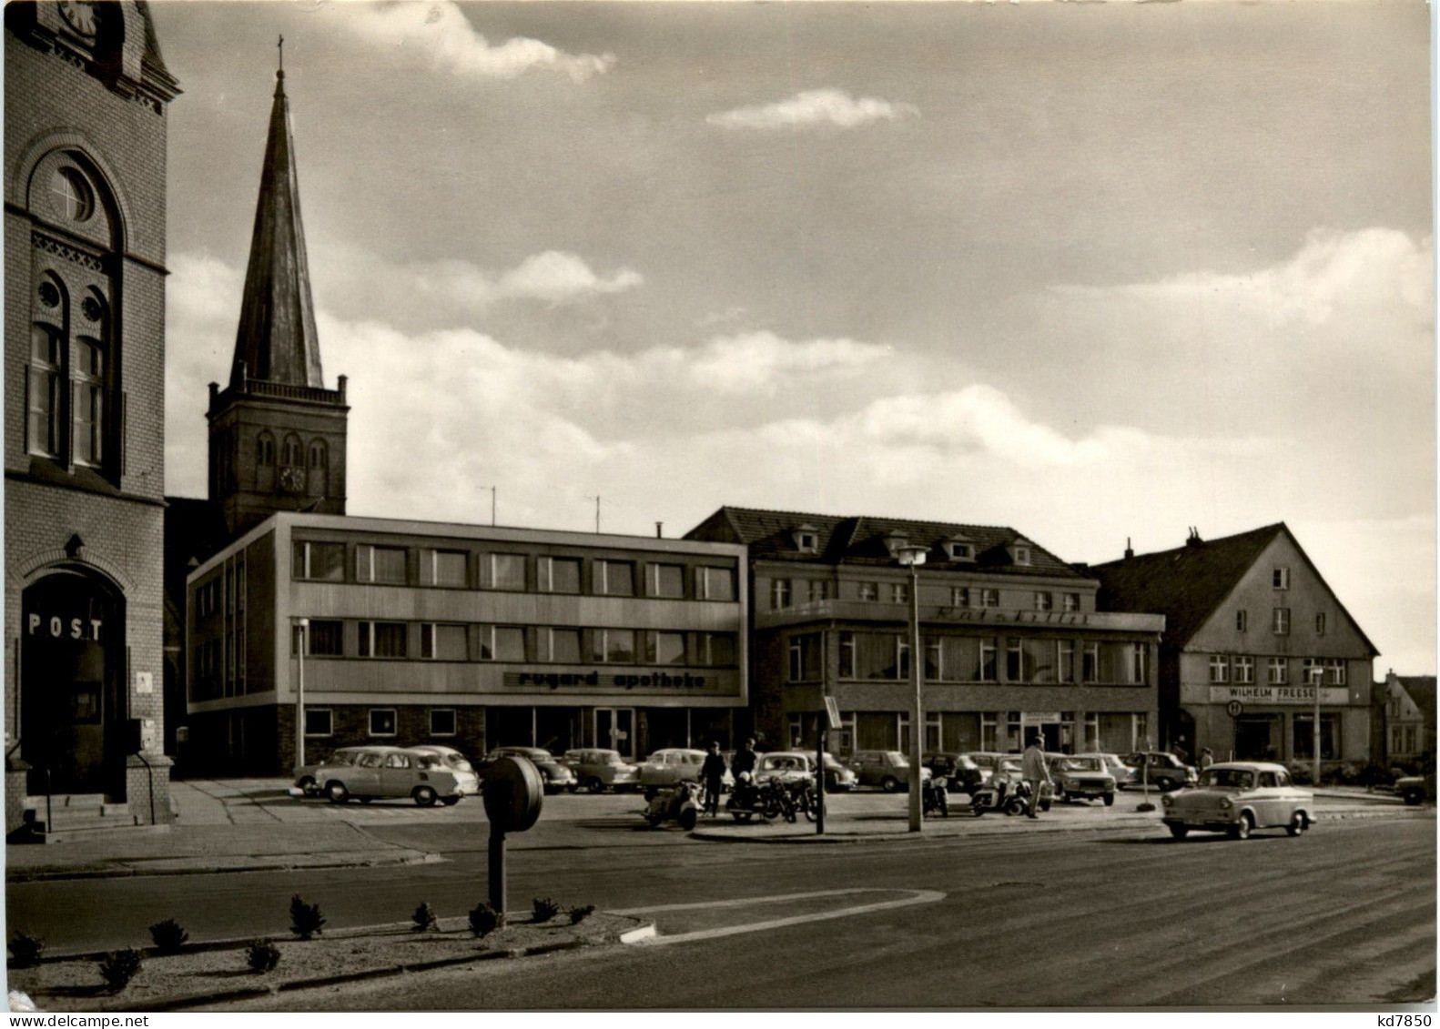
{"label": "tapering pointed spire atop the church tower", "polygon": [[[284,42],[282,36],[281,45]],[[300,219],[295,140],[289,128],[289,99],[285,96],[284,50],[281,55],[230,384],[249,377],[323,389],[305,229]]]}

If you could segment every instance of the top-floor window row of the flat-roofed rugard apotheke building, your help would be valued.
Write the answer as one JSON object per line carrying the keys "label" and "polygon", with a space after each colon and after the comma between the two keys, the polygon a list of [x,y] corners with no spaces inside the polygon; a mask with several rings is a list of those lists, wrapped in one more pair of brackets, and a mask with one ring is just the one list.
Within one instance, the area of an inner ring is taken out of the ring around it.
{"label": "top-floor window row of the flat-roofed rugard apotheke building", "polygon": [[[737,596],[733,567],[504,551],[474,554],[468,550],[386,547],[369,543],[354,545],[354,560],[350,564],[353,579],[347,579],[346,550],[347,545],[343,543],[297,543],[291,574],[295,579],[330,583],[438,586],[516,593],[588,591],[608,597],[644,596],[671,600],[734,600]],[[585,589],[586,571],[589,571],[589,590]]]}

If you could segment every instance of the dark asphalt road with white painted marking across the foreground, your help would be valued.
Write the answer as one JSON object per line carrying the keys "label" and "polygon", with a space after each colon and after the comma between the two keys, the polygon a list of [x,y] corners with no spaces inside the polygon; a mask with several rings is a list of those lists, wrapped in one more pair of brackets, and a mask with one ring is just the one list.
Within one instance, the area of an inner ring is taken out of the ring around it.
{"label": "dark asphalt road with white painted marking across the foreground", "polygon": [[[648,915],[662,938],[700,934],[674,946],[495,963],[255,1006],[1070,1009],[1434,996],[1428,820],[1339,822],[1300,839],[1280,832],[1247,842],[1117,830],[805,846],[609,832],[624,843],[642,836],[644,849],[598,838],[514,853],[511,905],[528,907],[534,895],[606,910],[730,904]],[[318,901],[333,927],[402,921],[420,901],[462,914],[485,892],[482,846],[472,833],[428,842],[452,861],[12,885],[9,918],[40,925],[59,948],[132,944],[170,915],[197,940],[284,934],[294,892]],[[857,892],[795,897],[841,889]],[[816,915],[825,918],[706,935]],[[1027,964],[1035,948],[1043,957]]]}

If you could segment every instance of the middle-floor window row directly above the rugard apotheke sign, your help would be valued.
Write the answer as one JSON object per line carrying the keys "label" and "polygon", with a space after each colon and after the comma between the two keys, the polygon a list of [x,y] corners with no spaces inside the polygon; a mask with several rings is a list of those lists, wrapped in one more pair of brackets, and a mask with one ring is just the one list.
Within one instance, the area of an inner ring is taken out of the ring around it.
{"label": "middle-floor window row directly above the rugard apotheke sign", "polygon": [[[347,625],[353,626],[347,640]],[[416,630],[412,632],[412,626]],[[291,653],[312,658],[395,658],[423,661],[498,661],[577,665],[688,665],[733,668],[736,636],[723,632],[655,629],[580,629],[458,622],[351,622],[311,619],[295,626]]]}

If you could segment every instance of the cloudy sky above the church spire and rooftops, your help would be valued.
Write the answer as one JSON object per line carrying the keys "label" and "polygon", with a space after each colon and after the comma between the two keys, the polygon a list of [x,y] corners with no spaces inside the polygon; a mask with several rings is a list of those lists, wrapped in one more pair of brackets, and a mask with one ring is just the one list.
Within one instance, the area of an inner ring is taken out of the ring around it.
{"label": "cloudy sky above the church spire and rooftops", "polygon": [[151,9],[170,494],[284,35],[351,514],[732,504],[1087,563],[1284,521],[1377,675],[1434,674],[1423,3]]}

